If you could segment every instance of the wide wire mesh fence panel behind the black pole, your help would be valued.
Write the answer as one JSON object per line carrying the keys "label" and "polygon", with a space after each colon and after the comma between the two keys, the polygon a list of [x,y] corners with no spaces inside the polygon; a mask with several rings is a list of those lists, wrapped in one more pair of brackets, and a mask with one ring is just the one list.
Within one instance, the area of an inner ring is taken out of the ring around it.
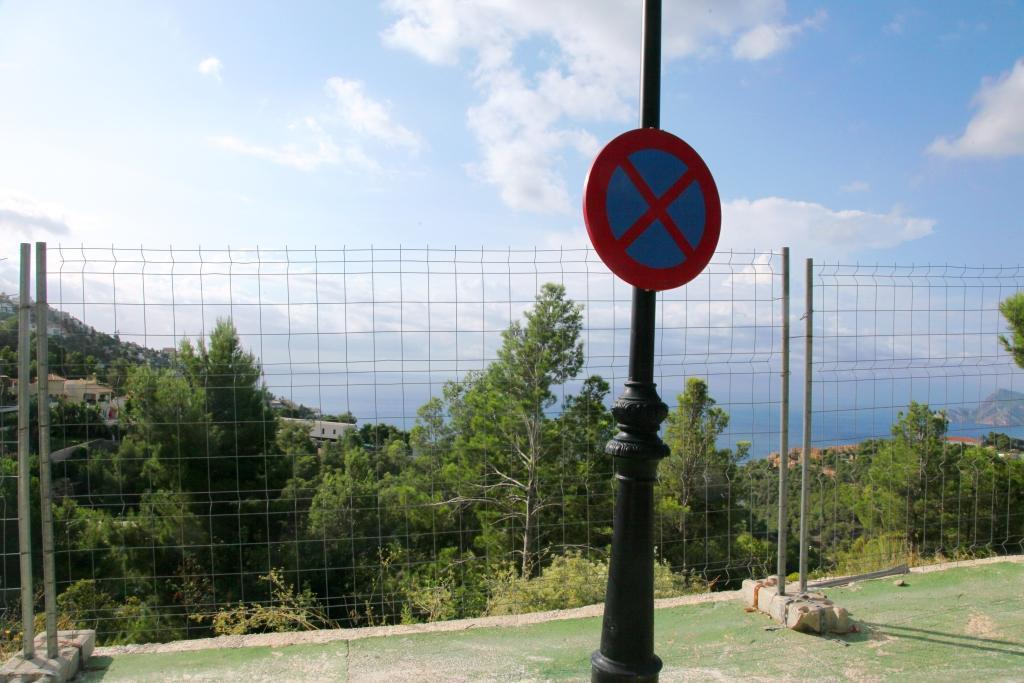
{"label": "wide wire mesh fence panel behind the black pole", "polygon": [[[777,269],[660,301],[702,456],[665,463],[658,595],[771,564]],[[602,598],[631,289],[591,251],[58,247],[48,290],[57,591],[101,639]]]}

